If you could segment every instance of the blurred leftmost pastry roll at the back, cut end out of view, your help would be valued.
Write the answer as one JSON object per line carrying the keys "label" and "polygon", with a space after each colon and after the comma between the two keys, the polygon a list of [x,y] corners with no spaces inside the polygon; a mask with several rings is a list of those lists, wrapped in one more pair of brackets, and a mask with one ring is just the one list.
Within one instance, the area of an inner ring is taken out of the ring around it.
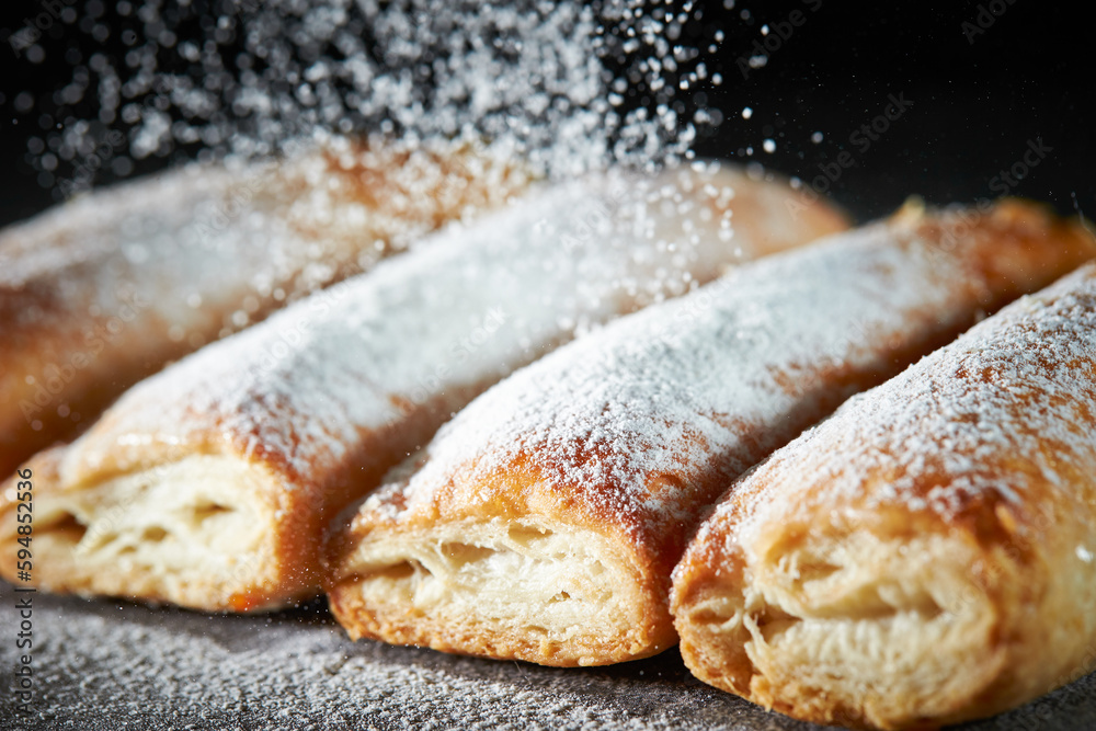
{"label": "blurred leftmost pastry roll at the back, cut end out of view", "polygon": [[470,145],[346,139],[192,165],[0,232],[0,479],[128,386],[524,189]]}

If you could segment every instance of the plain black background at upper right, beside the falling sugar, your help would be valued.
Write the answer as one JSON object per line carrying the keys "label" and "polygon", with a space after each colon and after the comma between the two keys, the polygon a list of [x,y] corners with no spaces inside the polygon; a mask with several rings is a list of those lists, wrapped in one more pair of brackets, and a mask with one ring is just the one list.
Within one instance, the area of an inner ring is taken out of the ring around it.
{"label": "plain black background at upper right, beside the falling sugar", "polygon": [[[701,150],[729,152],[757,123],[770,125],[786,136],[777,138],[773,167],[806,180],[848,148],[856,165],[832,194],[860,216],[878,216],[910,194],[941,204],[995,197],[990,181],[1021,159],[1029,139],[1042,137],[1053,151],[1013,192],[1063,213],[1075,209],[1075,195],[1092,215],[1092,18],[1071,14],[1065,3],[1000,4],[1007,10],[971,44],[963,23],[978,27],[987,3],[823,3],[749,80],[727,70],[737,83],[722,92],[722,104],[756,100],[753,124],[731,117]],[[770,5],[765,16],[786,13]],[[882,111],[889,93],[904,93],[912,108],[867,152],[856,152],[849,134]],[[812,129],[824,133],[822,145],[808,140]]]}

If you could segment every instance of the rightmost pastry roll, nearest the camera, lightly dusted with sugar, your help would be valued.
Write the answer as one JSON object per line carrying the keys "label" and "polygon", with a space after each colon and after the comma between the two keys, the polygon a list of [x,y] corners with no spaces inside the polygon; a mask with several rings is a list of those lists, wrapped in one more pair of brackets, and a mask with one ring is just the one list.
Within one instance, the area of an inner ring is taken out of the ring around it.
{"label": "rightmost pastry roll, nearest the camera, lightly dusted with sugar", "polygon": [[1096,266],[844,404],[675,570],[697,677],[819,723],[1018,706],[1096,653]]}

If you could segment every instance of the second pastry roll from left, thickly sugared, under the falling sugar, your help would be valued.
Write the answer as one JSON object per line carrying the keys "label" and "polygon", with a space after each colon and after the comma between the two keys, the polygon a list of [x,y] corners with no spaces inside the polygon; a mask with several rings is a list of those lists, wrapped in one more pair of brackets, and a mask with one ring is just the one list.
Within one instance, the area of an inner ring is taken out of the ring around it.
{"label": "second pastry roll from left, thickly sugared, under the falling sugar", "polygon": [[[30,462],[36,579],[207,610],[316,593],[323,527],[483,388],[842,226],[825,205],[789,221],[794,197],[715,167],[541,190],[207,346]],[[0,545],[14,526],[9,502]]]}

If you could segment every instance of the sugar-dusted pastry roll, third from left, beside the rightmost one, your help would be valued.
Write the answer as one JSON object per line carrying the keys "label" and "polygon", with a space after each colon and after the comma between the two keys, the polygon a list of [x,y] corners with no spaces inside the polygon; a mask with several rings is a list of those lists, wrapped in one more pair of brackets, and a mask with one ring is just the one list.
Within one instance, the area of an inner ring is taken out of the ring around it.
{"label": "sugar-dusted pastry roll, third from left, beside the rightmost one", "polygon": [[478,398],[362,504],[330,544],[334,615],[549,665],[657,653],[671,570],[733,478],[1091,253],[1028,205],[911,207],[615,322]]}

